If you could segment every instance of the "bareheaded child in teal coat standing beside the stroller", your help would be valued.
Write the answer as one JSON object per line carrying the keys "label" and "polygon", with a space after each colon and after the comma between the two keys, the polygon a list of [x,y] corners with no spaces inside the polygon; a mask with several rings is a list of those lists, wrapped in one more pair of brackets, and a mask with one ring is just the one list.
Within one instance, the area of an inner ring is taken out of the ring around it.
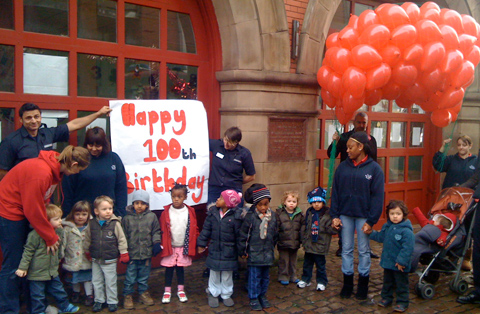
{"label": "bareheaded child in teal coat standing beside the stroller", "polygon": [[[412,223],[407,219],[408,208],[404,202],[391,200],[386,209],[387,222],[381,231],[372,230],[370,239],[383,243],[380,266],[383,268],[382,300],[378,303],[387,307],[393,302],[396,286],[397,304],[395,312],[405,312],[409,305],[408,272],[413,253],[415,236]],[[367,232],[370,233],[370,232]]]}

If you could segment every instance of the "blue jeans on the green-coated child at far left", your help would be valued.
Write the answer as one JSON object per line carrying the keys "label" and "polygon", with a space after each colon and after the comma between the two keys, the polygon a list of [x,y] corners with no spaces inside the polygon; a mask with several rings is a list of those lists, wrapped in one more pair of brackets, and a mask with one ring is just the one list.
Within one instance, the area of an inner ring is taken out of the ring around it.
{"label": "blue jeans on the green-coated child at far left", "polygon": [[57,302],[60,310],[66,310],[70,302],[68,295],[63,289],[63,284],[57,276],[52,280],[36,281],[31,280],[30,298],[32,300],[32,313],[45,313],[46,309],[46,293],[50,294]]}

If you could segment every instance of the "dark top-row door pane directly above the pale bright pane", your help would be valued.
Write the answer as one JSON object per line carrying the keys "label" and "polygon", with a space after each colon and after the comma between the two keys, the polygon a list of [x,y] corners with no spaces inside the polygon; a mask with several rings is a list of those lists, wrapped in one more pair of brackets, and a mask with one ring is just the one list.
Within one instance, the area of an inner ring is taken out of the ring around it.
{"label": "dark top-row door pane directly above the pale bright pane", "polygon": [[68,36],[68,0],[24,0],[27,32]]}

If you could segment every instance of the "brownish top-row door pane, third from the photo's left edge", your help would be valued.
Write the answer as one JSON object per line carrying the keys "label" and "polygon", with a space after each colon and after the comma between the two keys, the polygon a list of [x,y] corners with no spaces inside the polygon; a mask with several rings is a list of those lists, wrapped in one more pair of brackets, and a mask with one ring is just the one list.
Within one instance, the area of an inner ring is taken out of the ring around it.
{"label": "brownish top-row door pane, third from the photo's left edge", "polygon": [[117,42],[117,2],[78,0],[78,38]]}

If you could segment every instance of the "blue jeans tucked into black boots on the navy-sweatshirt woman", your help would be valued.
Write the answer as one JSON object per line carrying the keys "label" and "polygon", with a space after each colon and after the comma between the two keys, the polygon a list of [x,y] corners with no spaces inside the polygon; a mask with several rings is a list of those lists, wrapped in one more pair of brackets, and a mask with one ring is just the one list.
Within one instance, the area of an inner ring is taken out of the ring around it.
{"label": "blue jeans tucked into black boots on the navy-sweatshirt woman", "polygon": [[362,276],[370,274],[370,240],[363,233],[362,227],[367,218],[358,218],[340,215],[342,221],[342,272],[353,275],[353,248],[355,244],[355,230],[357,230],[358,273]]}

